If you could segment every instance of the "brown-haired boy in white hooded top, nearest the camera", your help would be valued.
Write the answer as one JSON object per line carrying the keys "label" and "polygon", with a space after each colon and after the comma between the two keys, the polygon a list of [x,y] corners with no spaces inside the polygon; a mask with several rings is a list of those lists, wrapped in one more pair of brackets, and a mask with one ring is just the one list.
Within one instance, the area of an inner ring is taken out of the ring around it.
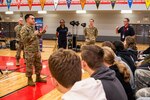
{"label": "brown-haired boy in white hooded top, nearest the camera", "polygon": [[64,93],[62,100],[107,100],[100,80],[81,81],[81,60],[74,51],[54,52],[49,58],[49,69],[54,86]]}

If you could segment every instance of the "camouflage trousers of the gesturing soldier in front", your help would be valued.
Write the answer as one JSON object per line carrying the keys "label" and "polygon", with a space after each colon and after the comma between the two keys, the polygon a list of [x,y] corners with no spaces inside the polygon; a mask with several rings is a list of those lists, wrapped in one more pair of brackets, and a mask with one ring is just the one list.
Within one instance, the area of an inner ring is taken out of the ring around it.
{"label": "camouflage trousers of the gesturing soldier in front", "polygon": [[33,66],[35,74],[40,75],[42,70],[41,53],[40,52],[25,52],[26,59],[26,76],[31,77],[33,74]]}

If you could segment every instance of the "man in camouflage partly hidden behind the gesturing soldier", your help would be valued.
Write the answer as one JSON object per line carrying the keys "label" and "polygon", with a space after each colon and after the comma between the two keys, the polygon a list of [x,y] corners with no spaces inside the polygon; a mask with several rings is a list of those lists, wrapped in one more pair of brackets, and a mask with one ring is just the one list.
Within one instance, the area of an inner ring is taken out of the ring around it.
{"label": "man in camouflage partly hidden behind the gesturing soldier", "polygon": [[[21,54],[21,50],[23,50],[23,43],[21,41],[21,35],[20,35],[20,31],[21,28],[23,26],[23,19],[20,18],[18,20],[18,25],[14,28],[15,32],[16,32],[16,48],[17,48],[17,52],[16,52],[16,66],[19,66],[19,60],[20,60],[20,54]],[[24,51],[23,51],[23,57],[24,57]]]}

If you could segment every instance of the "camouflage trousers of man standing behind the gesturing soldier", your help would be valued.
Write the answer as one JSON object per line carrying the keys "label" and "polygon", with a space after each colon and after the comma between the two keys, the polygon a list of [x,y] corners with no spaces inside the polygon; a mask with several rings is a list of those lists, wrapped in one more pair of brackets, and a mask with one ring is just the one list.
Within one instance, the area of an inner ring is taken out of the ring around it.
{"label": "camouflage trousers of man standing behind the gesturing soldier", "polygon": [[[16,49],[17,49],[17,52],[16,52],[16,60],[19,61],[20,59],[20,55],[21,55],[21,51],[23,50],[24,46],[23,46],[23,43],[22,42],[18,42],[16,44]],[[24,53],[24,50],[23,50],[23,58],[25,58],[25,53]]]}

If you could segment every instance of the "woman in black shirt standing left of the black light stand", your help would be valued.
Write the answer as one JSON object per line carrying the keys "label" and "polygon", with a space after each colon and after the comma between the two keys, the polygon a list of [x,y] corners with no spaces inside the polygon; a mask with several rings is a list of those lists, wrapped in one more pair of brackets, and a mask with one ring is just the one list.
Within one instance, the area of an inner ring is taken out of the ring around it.
{"label": "woman in black shirt standing left of the black light stand", "polygon": [[58,38],[58,48],[66,49],[67,33],[68,33],[68,28],[65,27],[65,21],[61,19],[60,26],[56,29],[56,37]]}

